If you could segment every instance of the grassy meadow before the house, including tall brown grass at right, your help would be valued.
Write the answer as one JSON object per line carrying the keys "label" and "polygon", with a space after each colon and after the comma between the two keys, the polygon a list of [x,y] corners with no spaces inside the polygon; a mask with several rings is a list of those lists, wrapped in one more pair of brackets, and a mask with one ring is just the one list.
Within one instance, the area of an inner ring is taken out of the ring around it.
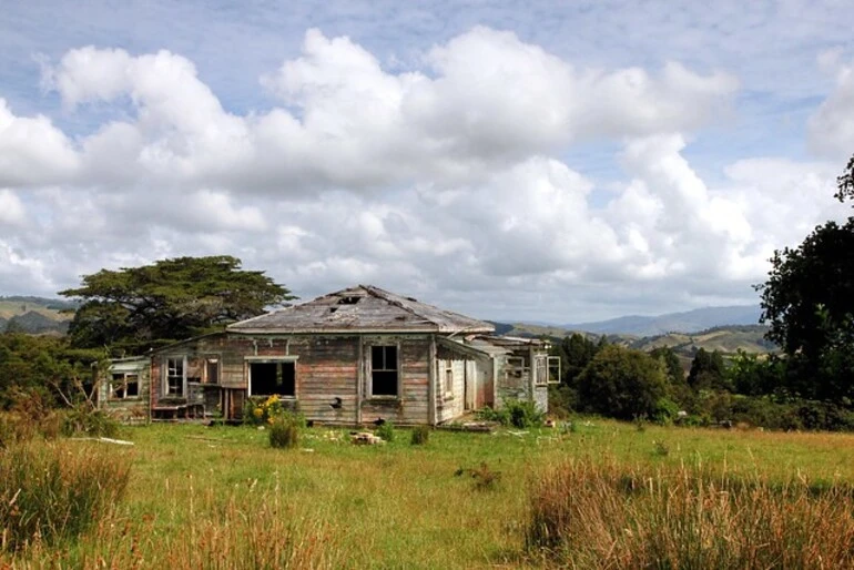
{"label": "grassy meadow before the house, including tall brown grass at right", "polygon": [[[123,428],[133,447],[41,444],[124,458],[126,489],[79,540],[37,540],[0,554],[0,568],[689,568],[702,559],[679,549],[694,543],[718,567],[751,568],[776,560],[755,558],[774,537],[802,542],[771,557],[812,549],[776,567],[854,563],[854,435],[575,418],[435,430],[423,446],[395,436],[354,446],[345,429],[315,427],[298,448],[274,449],[253,427],[154,425]],[[749,500],[733,502],[740,493]],[[739,542],[713,525],[763,513],[770,535],[720,558]],[[669,541],[638,542],[672,521]]]}

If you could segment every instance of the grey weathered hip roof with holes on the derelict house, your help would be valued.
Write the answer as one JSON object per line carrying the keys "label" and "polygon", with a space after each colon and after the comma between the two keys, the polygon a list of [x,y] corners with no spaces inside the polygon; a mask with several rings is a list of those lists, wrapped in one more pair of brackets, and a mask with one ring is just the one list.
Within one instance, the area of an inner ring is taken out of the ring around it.
{"label": "grey weathered hip roof with holes on the derelict house", "polygon": [[491,333],[482,320],[444,311],[372,285],[231,324],[231,333]]}

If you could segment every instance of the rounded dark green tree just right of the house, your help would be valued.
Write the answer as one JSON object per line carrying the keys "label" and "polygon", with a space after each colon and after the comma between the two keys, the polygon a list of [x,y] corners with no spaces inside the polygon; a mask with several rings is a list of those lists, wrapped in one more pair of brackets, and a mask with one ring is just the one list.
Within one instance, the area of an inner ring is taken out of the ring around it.
{"label": "rounded dark green tree just right of the house", "polygon": [[663,366],[640,350],[608,345],[578,377],[579,398],[591,411],[619,419],[654,416],[667,395]]}

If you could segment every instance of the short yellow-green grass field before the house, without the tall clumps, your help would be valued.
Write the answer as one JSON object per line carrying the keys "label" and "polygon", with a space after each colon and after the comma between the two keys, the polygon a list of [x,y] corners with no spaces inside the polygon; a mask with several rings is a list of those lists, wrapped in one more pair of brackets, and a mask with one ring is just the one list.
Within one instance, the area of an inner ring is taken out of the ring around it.
{"label": "short yellow-green grass field before the house, without the tall clumps", "polygon": [[132,461],[114,513],[75,544],[7,554],[0,567],[540,567],[525,550],[529,489],[573,459],[854,485],[854,435],[580,418],[572,429],[435,431],[426,446],[404,429],[385,446],[353,446],[346,430],[311,428],[294,450],[248,427],[156,425],[121,437],[135,446],[109,446]]}

